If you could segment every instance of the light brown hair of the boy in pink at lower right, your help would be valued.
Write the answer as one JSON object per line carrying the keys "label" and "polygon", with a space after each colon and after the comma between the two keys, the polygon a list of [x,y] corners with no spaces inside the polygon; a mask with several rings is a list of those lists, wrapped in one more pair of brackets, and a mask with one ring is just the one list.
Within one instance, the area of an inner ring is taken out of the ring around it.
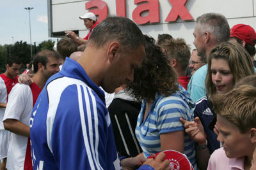
{"label": "light brown hair of the boy in pink at lower right", "polygon": [[216,94],[212,103],[214,112],[227,118],[241,133],[256,128],[256,87],[241,85],[226,94]]}

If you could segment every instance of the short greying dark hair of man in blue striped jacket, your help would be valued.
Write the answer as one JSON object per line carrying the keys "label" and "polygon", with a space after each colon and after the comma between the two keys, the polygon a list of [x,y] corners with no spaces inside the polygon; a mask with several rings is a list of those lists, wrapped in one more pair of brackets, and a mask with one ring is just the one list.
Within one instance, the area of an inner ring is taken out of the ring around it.
{"label": "short greying dark hair of man in blue striped jacket", "polygon": [[145,38],[140,28],[129,18],[108,17],[92,31],[88,43],[102,47],[109,41],[118,41],[125,49],[136,49],[140,44],[145,46]]}

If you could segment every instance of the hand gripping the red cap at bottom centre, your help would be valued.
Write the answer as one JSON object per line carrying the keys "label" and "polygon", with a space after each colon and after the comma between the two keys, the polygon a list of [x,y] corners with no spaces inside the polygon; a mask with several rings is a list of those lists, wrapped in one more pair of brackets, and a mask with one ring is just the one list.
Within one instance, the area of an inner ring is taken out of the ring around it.
{"label": "hand gripping the red cap at bottom centre", "polygon": [[165,153],[159,153],[155,158],[147,159],[143,165],[152,166],[155,170],[171,170],[170,161],[168,159],[163,160]]}

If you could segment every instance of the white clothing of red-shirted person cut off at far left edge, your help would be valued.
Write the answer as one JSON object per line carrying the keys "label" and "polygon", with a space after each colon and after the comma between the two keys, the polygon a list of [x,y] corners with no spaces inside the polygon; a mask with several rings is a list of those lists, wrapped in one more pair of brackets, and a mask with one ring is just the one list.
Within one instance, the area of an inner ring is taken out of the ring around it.
{"label": "white clothing of red-shirted person cut off at far left edge", "polygon": [[[0,77],[0,103],[6,103],[7,91],[3,78]],[[4,130],[2,122],[5,108],[0,108],[0,130]]]}

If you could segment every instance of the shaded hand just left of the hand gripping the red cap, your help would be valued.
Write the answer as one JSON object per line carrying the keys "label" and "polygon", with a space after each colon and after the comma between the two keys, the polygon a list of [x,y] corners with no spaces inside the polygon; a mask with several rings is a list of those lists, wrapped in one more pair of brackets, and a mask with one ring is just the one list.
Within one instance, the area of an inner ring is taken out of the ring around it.
{"label": "shaded hand just left of the hand gripping the red cap", "polygon": [[147,159],[143,157],[130,157],[121,160],[123,170],[133,170],[140,167]]}

